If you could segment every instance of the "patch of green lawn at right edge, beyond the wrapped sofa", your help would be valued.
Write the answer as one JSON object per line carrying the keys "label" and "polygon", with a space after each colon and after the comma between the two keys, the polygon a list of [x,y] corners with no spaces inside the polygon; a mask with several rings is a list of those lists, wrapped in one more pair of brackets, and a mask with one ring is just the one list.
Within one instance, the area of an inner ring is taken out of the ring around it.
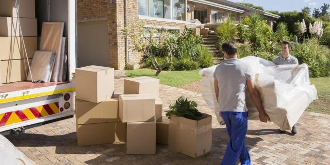
{"label": "patch of green lawn at right edge, beyond the wrapped sofa", "polygon": [[311,78],[317,90],[318,100],[315,100],[306,110],[330,114],[330,77]]}

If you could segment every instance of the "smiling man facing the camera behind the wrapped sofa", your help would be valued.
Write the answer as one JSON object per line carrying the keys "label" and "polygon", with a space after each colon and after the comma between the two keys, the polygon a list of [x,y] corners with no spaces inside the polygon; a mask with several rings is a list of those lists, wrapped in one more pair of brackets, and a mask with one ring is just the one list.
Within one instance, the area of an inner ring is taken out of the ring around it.
{"label": "smiling man facing the camera behind the wrapped sofa", "polygon": [[[297,58],[290,55],[290,49],[291,49],[290,43],[288,41],[283,41],[281,43],[282,54],[279,57],[277,57],[276,59],[274,59],[273,62],[276,65],[292,65],[292,64],[298,65],[299,63],[298,63]],[[283,134],[283,133],[285,133],[285,130],[280,129],[279,133]],[[292,127],[291,133],[293,135],[298,133],[295,125]]]}

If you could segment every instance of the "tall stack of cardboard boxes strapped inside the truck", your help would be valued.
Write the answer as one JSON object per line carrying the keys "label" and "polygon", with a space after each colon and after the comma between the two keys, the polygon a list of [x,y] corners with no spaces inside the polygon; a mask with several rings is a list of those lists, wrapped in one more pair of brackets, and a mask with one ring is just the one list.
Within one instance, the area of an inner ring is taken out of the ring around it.
{"label": "tall stack of cardboard boxes strapped inside the truck", "polygon": [[[28,71],[27,61],[37,50],[37,20],[34,0],[19,2],[19,24],[16,14],[16,0],[0,0],[0,69],[1,83],[25,81]],[[24,40],[26,55],[24,52]],[[9,80],[10,77],[10,80]]]}

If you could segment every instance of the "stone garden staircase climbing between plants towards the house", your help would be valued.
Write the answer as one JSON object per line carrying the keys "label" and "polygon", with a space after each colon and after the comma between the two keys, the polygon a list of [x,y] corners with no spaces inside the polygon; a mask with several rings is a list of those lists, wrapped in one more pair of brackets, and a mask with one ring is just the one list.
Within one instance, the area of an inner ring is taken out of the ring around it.
{"label": "stone garden staircase climbing between plants towards the house", "polygon": [[213,30],[208,30],[207,35],[201,35],[203,39],[203,44],[209,51],[213,54],[214,57],[214,65],[219,64],[224,60],[223,55],[220,53],[218,49],[218,38]]}

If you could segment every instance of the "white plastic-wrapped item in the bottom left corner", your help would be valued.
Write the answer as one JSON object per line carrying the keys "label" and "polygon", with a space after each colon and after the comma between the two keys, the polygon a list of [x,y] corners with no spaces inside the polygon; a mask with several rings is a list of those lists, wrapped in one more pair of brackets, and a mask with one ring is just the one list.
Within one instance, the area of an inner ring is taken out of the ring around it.
{"label": "white plastic-wrapped item in the bottom left corner", "polygon": [[0,135],[0,160],[1,165],[35,165],[24,153],[17,150],[15,146],[4,136]]}

